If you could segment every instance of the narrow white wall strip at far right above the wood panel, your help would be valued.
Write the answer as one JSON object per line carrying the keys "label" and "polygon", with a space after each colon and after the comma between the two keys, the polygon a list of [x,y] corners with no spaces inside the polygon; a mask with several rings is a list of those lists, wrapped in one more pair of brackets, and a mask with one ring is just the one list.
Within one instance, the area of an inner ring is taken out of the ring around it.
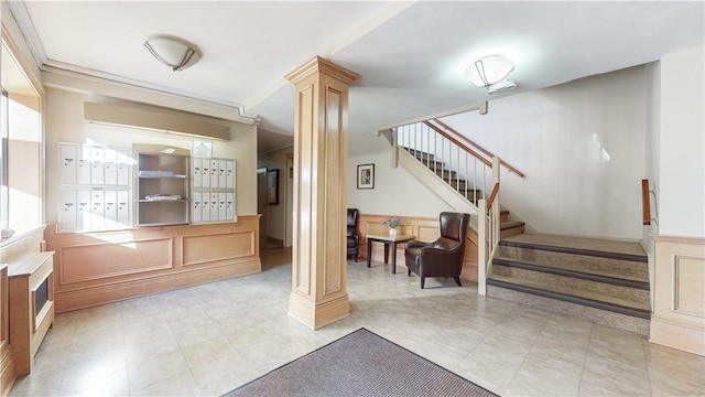
{"label": "narrow white wall strip at far right above the wood panel", "polygon": [[705,237],[704,71],[704,47],[661,60],[661,235]]}

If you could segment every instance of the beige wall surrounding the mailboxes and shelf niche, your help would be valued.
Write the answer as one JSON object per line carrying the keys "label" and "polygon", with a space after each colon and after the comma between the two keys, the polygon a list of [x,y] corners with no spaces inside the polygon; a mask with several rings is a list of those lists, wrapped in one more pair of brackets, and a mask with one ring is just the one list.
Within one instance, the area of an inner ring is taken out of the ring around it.
{"label": "beige wall surrounding the mailboxes and shelf niche", "polygon": [[[139,100],[139,97],[134,99]],[[52,203],[58,203],[57,171],[59,160],[57,147],[59,142],[105,144],[128,149],[132,147],[132,143],[167,144],[188,150],[193,147],[193,137],[88,122],[84,119],[84,101],[96,101],[96,97],[63,89],[46,89],[44,119],[47,180],[46,222],[48,224],[57,221],[58,206]],[[227,120],[218,122],[230,126],[231,139],[229,141],[213,141],[213,155],[236,159],[237,214],[257,214],[257,127]]]}

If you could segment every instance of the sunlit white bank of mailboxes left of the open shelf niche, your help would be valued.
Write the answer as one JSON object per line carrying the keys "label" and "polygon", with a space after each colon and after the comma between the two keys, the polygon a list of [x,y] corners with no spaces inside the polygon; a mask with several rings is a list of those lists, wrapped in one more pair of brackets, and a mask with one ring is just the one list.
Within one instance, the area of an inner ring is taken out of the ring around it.
{"label": "sunlit white bank of mailboxes left of the open shelf niche", "polygon": [[130,149],[61,143],[58,230],[130,227]]}

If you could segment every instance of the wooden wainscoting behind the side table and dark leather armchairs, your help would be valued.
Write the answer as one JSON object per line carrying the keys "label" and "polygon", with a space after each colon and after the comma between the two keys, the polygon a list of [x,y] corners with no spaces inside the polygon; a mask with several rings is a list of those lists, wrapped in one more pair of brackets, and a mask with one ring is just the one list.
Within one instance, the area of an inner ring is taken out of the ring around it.
{"label": "wooden wainscoting behind the side table and dark leather armchairs", "polygon": [[[386,235],[389,227],[384,226],[384,219],[391,215],[359,214],[358,215],[358,233],[360,235],[359,260],[367,260],[367,238],[366,235]],[[417,217],[417,216],[400,216],[401,224],[397,226],[397,233],[400,235],[414,235],[415,239],[421,242],[433,242],[441,236],[437,217]],[[463,272],[460,279],[466,281],[477,281],[477,243],[469,238],[465,244],[465,258],[463,260]],[[399,244],[397,247],[397,266],[403,269],[397,269],[397,272],[405,272],[404,264],[404,245]],[[372,245],[372,260],[384,261],[384,248],[381,244]],[[391,262],[391,257],[389,258]]]}

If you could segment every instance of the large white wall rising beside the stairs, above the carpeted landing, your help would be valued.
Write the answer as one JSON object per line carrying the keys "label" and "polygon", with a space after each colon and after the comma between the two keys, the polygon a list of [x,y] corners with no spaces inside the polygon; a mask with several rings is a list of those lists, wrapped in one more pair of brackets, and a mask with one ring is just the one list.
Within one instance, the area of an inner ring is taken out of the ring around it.
{"label": "large white wall rising beside the stairs, above the carpeted landing", "polygon": [[503,97],[446,122],[522,171],[501,204],[529,230],[641,239],[644,66]]}

